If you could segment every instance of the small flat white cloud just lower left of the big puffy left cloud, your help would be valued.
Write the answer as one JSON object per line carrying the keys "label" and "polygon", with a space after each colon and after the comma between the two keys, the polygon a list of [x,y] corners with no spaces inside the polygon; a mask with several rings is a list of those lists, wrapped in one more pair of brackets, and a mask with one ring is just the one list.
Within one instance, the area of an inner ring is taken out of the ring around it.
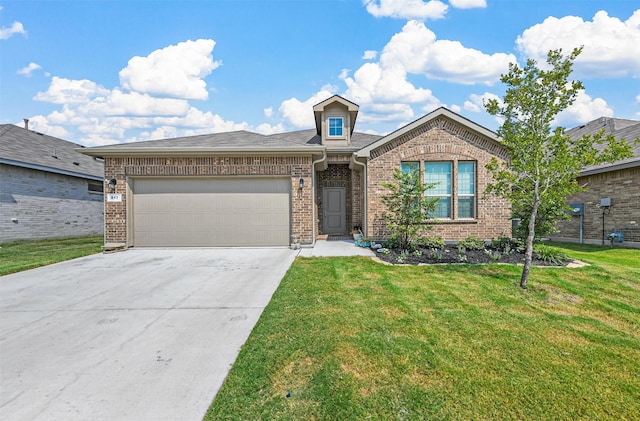
{"label": "small flat white cloud just lower left of the big puffy left cloud", "polygon": [[46,92],[38,92],[33,99],[54,104],[81,104],[97,96],[106,96],[109,90],[87,79],[73,80],[54,76]]}

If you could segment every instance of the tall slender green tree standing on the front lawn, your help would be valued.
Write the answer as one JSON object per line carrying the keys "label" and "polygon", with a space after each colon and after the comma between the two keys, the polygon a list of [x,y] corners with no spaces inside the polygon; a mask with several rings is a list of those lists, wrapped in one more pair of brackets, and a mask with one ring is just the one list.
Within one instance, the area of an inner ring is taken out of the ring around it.
{"label": "tall slender green tree standing on the front lawn", "polygon": [[529,279],[536,230],[548,233],[566,217],[567,196],[584,190],[576,182],[580,170],[632,156],[624,139],[617,141],[604,132],[572,139],[563,127],[552,129],[556,116],[584,89],[580,81],[569,81],[581,52],[582,47],[576,48],[565,57],[561,49],[549,51],[548,70],[531,59],[524,68],[511,63],[500,78],[507,85],[503,103],[492,99],[485,104],[489,114],[504,119],[498,135],[511,150],[508,162],[494,159],[487,165],[493,177],[487,193],[510,200],[514,216],[526,224],[522,288]]}

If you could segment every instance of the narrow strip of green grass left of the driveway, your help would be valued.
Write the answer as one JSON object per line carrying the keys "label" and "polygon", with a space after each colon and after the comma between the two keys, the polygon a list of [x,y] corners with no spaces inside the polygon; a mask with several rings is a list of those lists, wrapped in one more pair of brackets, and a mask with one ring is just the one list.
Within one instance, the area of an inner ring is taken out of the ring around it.
{"label": "narrow strip of green grass left of the driveway", "polygon": [[102,245],[102,236],[0,244],[0,276],[99,253]]}

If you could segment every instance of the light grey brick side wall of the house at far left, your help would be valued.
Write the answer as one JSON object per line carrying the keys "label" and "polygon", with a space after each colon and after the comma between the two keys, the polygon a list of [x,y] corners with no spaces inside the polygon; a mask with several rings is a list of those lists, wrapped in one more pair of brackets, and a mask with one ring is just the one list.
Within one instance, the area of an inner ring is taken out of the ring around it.
{"label": "light grey brick side wall of the house at far left", "polygon": [[102,235],[103,195],[87,181],[0,164],[0,243]]}

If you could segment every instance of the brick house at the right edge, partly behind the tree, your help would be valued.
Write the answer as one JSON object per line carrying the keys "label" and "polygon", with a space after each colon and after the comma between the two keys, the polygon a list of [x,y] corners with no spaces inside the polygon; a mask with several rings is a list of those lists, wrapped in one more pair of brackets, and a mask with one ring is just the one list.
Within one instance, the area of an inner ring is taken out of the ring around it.
{"label": "brick house at the right edge, partly behind the tree", "polygon": [[579,242],[582,220],[582,242],[586,244],[610,244],[608,234],[618,232],[622,237],[616,239],[623,239],[620,245],[640,247],[640,144],[633,142],[640,138],[640,121],[601,117],[567,134],[578,138],[601,130],[626,139],[634,155],[581,171],[578,184],[588,190],[568,199],[576,211],[570,220],[558,224],[560,231],[551,238]]}

